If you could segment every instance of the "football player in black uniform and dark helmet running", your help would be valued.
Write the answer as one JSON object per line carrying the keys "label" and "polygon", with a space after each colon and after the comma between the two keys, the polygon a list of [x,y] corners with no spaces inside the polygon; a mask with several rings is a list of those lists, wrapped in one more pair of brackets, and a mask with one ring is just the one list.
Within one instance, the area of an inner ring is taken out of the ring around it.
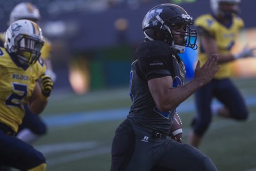
{"label": "football player in black uniform and dark helmet running", "polygon": [[193,23],[174,4],[158,5],[145,15],[145,42],[136,50],[130,74],[133,104],[115,132],[111,171],[217,170],[198,149],[168,136],[177,106],[219,70],[219,57],[213,54],[202,67],[198,61],[195,78],[184,84],[185,68],[178,53],[185,47],[197,48]]}

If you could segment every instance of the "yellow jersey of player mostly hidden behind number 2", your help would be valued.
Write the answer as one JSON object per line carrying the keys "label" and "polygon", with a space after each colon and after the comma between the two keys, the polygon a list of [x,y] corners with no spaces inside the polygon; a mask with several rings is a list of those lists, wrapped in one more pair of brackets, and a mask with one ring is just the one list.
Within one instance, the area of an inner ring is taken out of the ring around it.
{"label": "yellow jersey of player mostly hidden behind number 2", "polygon": [[[3,33],[0,33],[0,47],[4,47],[4,42],[5,42],[5,36]],[[52,43],[44,37],[44,46],[42,46],[42,49],[40,51],[41,53],[41,58],[46,60],[51,57],[51,50],[52,50]]]}

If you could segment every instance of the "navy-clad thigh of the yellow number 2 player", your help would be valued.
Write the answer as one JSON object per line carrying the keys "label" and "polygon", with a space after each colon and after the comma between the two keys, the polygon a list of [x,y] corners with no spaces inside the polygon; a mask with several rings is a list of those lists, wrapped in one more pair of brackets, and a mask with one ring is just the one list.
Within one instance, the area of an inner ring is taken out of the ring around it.
{"label": "navy-clad thigh of the yellow number 2 player", "polygon": [[22,170],[45,163],[44,156],[33,146],[0,131],[0,164]]}

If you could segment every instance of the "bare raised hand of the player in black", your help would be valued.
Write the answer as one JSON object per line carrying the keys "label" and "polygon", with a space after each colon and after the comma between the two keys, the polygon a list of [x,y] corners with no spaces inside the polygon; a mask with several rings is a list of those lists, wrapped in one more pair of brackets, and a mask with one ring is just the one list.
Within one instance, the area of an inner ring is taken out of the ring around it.
{"label": "bare raised hand of the player in black", "polygon": [[214,78],[214,75],[219,70],[220,66],[217,66],[217,63],[219,61],[218,54],[211,54],[204,65],[200,67],[201,62],[198,60],[196,69],[195,69],[195,78],[194,80],[199,83],[200,86],[204,86],[212,78]]}

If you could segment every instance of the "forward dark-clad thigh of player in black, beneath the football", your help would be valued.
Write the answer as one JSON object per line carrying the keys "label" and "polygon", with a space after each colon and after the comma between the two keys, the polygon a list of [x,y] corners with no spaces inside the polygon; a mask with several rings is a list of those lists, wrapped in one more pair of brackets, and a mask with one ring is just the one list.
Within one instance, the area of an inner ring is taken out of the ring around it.
{"label": "forward dark-clad thigh of player in black, beneath the football", "polygon": [[[173,141],[173,140],[168,140]],[[204,170],[216,171],[217,168],[212,161],[201,153],[197,148],[179,142],[170,142],[172,147],[166,148],[166,154],[157,165],[170,170],[188,171]]]}

